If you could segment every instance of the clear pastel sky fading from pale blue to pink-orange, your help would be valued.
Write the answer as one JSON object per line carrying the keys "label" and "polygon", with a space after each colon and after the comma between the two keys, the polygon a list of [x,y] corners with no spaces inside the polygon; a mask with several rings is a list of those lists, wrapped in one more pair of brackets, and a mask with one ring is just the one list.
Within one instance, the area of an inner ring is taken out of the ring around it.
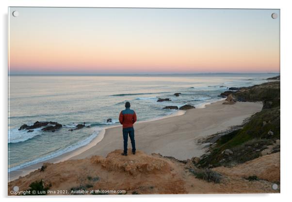
{"label": "clear pastel sky fading from pale blue to pink-orange", "polygon": [[278,9],[10,7],[9,15],[10,74],[280,68]]}

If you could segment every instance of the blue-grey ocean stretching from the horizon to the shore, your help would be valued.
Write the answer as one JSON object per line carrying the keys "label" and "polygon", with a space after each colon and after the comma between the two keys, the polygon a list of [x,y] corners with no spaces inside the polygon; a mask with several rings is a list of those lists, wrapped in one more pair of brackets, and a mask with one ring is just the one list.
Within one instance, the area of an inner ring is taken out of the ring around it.
{"label": "blue-grey ocean stretching from the horizon to the shore", "polygon": [[[130,101],[138,121],[162,118],[178,111],[162,109],[164,106],[204,107],[222,100],[218,95],[228,87],[261,84],[276,75],[9,76],[8,171],[88,144],[102,128],[119,125],[118,116],[126,101]],[[157,102],[158,98],[172,101]],[[108,123],[108,118],[112,122]],[[36,121],[55,121],[63,127],[55,132],[18,130]],[[83,122],[90,127],[68,131]]]}

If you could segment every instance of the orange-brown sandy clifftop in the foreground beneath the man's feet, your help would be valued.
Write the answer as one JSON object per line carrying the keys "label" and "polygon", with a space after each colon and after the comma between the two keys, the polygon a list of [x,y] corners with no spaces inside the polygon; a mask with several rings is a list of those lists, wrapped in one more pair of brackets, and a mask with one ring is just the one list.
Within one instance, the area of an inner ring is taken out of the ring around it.
{"label": "orange-brown sandy clifftop in the foreground beneath the man's feet", "polygon": [[[279,155],[270,154],[241,165],[238,169],[217,168],[200,170],[192,160],[179,161],[160,154],[147,155],[137,151],[135,155],[121,156],[122,150],[110,152],[106,158],[92,156],[79,160],[67,160],[45,164],[42,168],[20,177],[8,184],[8,195],[14,195],[15,186],[20,190],[45,191],[51,195],[75,194],[201,194],[201,193],[274,193],[272,182],[277,180]],[[265,175],[262,179],[249,181],[261,164]],[[275,172],[269,172],[275,170]],[[198,173],[212,173],[204,178]],[[279,177],[279,176],[278,176]],[[37,186],[36,186],[37,185]],[[60,193],[60,190],[62,192]],[[110,191],[123,190],[123,193]]]}

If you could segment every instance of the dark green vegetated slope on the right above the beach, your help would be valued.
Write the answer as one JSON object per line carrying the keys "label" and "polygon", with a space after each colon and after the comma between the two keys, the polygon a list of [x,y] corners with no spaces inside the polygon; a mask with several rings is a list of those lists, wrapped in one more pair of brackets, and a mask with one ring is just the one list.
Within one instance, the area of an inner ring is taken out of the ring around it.
{"label": "dark green vegetated slope on the right above the beach", "polygon": [[[242,129],[220,137],[210,148],[210,153],[201,157],[197,167],[244,163],[260,157],[261,151],[280,139],[280,82],[243,88],[233,95],[238,101],[263,101],[263,108]],[[273,150],[279,152],[280,147]]]}

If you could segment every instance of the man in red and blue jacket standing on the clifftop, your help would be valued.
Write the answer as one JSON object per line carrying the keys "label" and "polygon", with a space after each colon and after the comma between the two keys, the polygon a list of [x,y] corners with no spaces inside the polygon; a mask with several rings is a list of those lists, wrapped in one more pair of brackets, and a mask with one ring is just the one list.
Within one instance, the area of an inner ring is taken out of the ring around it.
{"label": "man in red and blue jacket standing on the clifftop", "polygon": [[135,147],[135,138],[134,138],[134,128],[133,124],[137,120],[136,113],[134,110],[130,109],[130,102],[127,101],[125,104],[126,109],[121,111],[119,116],[119,121],[123,124],[123,137],[124,137],[124,152],[122,153],[123,156],[128,155],[128,134],[130,136],[131,144],[132,144],[132,153],[136,153]]}

